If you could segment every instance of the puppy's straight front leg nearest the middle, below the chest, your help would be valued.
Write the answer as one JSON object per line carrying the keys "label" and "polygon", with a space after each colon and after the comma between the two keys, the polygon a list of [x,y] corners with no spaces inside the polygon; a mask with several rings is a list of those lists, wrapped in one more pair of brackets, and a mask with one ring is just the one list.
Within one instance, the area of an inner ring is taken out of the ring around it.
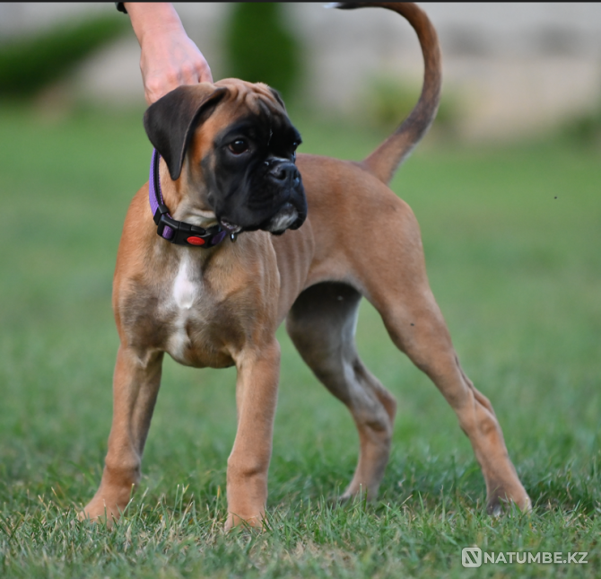
{"label": "puppy's straight front leg nearest the middle, below the chest", "polygon": [[274,339],[266,347],[243,351],[236,358],[238,432],[228,459],[226,531],[243,521],[260,527],[265,517],[280,345]]}

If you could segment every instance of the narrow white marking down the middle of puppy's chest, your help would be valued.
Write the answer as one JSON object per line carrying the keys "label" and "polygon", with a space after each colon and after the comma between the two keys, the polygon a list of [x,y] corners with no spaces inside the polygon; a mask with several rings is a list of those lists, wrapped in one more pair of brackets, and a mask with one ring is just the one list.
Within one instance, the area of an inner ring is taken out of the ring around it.
{"label": "narrow white marking down the middle of puppy's chest", "polygon": [[178,361],[185,359],[186,350],[190,346],[187,320],[190,318],[192,306],[201,290],[200,282],[192,279],[190,259],[184,256],[179,263],[178,275],[175,276],[171,290],[171,303],[176,311],[168,351]]}

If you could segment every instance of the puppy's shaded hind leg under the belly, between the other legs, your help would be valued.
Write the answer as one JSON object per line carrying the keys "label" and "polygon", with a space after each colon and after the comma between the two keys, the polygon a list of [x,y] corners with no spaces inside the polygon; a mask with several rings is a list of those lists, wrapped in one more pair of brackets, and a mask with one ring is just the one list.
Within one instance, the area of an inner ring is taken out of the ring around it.
{"label": "puppy's shaded hind leg under the belly, between the other legs", "polygon": [[313,285],[297,298],[286,328],[318,379],[351,411],[360,454],[343,498],[375,498],[390,454],[396,401],[364,366],[354,344],[361,294],[350,285]]}

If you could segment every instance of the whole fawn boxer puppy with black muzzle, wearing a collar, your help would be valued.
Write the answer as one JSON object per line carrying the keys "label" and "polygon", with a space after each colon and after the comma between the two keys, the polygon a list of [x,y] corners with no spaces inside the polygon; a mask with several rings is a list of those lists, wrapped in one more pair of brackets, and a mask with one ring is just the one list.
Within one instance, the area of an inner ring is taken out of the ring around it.
{"label": "whole fawn boxer puppy with black muzzle, wearing a collar", "polygon": [[425,63],[414,110],[363,162],[296,157],[300,135],[278,93],[262,83],[182,86],[146,111],[151,176],[127,212],[114,278],[120,347],[109,449],[82,518],[110,523],[126,508],[167,352],[199,368],[236,365],[226,528],[260,526],[280,368],[275,329],[283,320],[303,360],[357,426],[359,461],[343,497],[375,497],[396,402],[355,349],[361,296],[455,410],[483,471],[488,512],[508,502],[529,508],[491,403],[459,365],[428,285],[414,214],[387,187],[436,115],[436,31],[414,4],[337,4],[361,6],[402,14]]}

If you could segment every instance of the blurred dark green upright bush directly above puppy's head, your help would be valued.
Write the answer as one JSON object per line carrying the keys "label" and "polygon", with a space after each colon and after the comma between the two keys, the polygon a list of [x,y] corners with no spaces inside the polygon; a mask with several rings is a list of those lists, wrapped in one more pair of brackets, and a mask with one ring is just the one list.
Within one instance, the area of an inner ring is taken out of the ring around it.
{"label": "blurred dark green upright bush directly above puppy's head", "polygon": [[231,4],[224,48],[228,75],[292,97],[300,78],[300,43],[286,26],[281,3]]}

